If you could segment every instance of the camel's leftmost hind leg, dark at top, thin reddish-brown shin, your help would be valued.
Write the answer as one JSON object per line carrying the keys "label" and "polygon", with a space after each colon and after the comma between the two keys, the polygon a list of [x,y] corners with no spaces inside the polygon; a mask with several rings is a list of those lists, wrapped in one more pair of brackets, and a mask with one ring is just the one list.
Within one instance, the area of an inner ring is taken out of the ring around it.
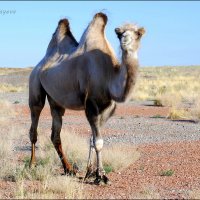
{"label": "camel's leftmost hind leg, dark at top, thin reddish-brown shin", "polygon": [[[30,167],[35,166],[35,144],[37,142],[37,127],[40,117],[40,113],[44,107],[46,92],[42,87],[38,91],[38,95],[33,95],[34,93],[30,90],[29,92],[29,108],[31,111],[31,127],[29,131],[30,141],[31,141],[31,160]],[[37,96],[37,97],[36,97]]]}

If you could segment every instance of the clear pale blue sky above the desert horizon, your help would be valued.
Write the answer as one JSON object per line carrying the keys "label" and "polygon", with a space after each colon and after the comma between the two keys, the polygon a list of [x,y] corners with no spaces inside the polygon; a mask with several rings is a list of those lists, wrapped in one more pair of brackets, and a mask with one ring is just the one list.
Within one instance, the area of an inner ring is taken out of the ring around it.
{"label": "clear pale blue sky above the desert horizon", "polygon": [[[15,14],[2,14],[15,10]],[[106,35],[119,55],[114,28],[144,26],[141,66],[200,65],[200,2],[62,1],[0,2],[0,67],[35,66],[44,56],[60,18],[67,17],[79,41],[96,12],[108,15]]]}

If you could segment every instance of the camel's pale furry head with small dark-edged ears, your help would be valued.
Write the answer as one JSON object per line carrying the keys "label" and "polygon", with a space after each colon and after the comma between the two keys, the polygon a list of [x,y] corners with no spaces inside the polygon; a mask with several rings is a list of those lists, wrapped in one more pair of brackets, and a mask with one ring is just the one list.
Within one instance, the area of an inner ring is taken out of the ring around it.
{"label": "camel's pale furry head with small dark-edged ears", "polygon": [[120,40],[123,51],[136,52],[139,48],[140,39],[145,34],[145,29],[134,24],[125,24],[116,28],[115,33]]}

